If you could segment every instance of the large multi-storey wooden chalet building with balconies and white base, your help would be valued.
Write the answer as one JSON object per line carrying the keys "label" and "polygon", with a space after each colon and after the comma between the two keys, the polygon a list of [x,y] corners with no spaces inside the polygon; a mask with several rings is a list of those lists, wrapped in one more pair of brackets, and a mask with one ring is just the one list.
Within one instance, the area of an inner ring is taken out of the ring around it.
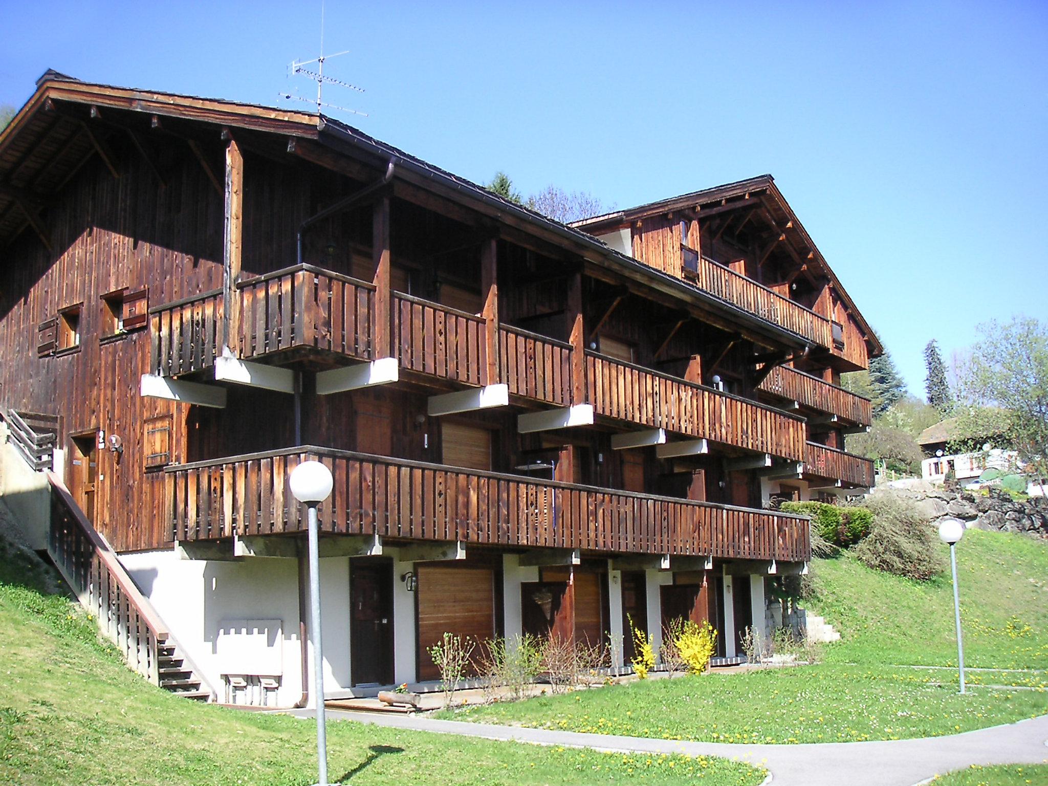
{"label": "large multi-storey wooden chalet building with balconies and white base", "polygon": [[110,545],[222,700],[306,690],[306,458],[329,696],[435,678],[444,631],[683,615],[735,656],[809,559],[767,500],[873,482],[839,374],[880,351],[770,176],[566,226],[327,117],[50,71],[0,133],[0,405],[77,503],[48,548]]}

